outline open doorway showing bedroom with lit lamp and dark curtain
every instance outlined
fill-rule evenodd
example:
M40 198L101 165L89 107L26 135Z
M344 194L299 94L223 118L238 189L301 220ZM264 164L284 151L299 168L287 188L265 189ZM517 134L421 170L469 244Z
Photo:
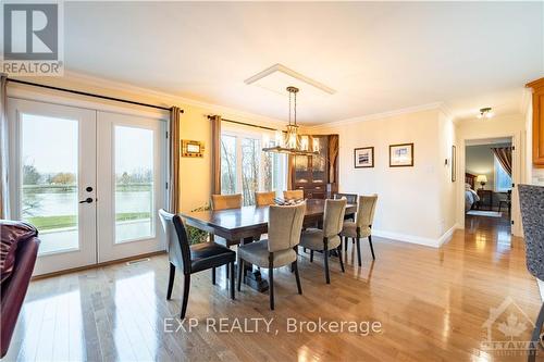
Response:
M465 226L511 235L512 138L467 140L465 146Z

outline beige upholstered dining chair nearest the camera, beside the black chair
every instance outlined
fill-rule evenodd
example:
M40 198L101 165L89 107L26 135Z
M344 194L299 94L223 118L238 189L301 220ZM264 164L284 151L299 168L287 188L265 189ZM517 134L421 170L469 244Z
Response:
M306 202L297 205L271 205L268 239L238 246L238 290L244 261L269 270L270 309L274 310L274 269L292 264L298 294L302 294L297 265L297 245L305 217Z

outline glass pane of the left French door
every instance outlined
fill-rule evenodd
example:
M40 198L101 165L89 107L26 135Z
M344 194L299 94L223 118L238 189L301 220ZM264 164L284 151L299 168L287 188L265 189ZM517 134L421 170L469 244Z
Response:
M76 120L21 114L21 219L38 228L39 254L79 248L77 145Z

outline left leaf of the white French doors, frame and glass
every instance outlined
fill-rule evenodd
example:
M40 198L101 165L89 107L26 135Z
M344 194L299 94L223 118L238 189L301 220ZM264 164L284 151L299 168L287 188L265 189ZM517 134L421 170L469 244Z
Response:
M8 118L12 219L41 240L34 274L96 263L96 111L10 98Z

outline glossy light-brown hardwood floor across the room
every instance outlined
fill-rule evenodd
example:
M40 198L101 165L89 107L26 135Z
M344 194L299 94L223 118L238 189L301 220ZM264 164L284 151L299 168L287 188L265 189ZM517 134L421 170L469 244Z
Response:
M176 277L173 299L166 301L165 255L36 280L4 360L526 360L519 353L502 357L481 348L491 308L511 297L522 312L509 313L519 319L526 313L534 321L541 305L536 282L526 269L522 240L510 238L499 220L484 219L467 222L469 228L457 230L441 249L375 237L375 262L363 241L362 267L356 266L350 245L345 274L338 261L331 260L331 285L323 279L321 254L313 263L304 254L302 296L288 267L274 272L275 311L269 310L268 295L248 287L230 300L223 269L215 286L210 273L195 274L187 319L199 324L191 332L165 332L164 319L180 313L183 287ZM274 320L270 333L221 333L207 332L207 317L228 317L231 323L235 317ZM289 317L379 321L382 332L287 333ZM168 321L177 327L174 320ZM516 339L529 339L529 323ZM500 332L494 333L500 337Z

